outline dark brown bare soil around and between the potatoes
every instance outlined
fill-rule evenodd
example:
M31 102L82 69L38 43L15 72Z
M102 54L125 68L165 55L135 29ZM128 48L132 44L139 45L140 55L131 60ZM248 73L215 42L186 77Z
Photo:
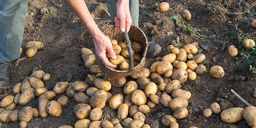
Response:
M106 3L99 3L96 0L85 0L90 12L96 19L96 23L104 30L110 26L109 16ZM250 23L255 19L255 15L248 14L230 14L224 12L241 12L238 6L239 0L168 0L170 5L169 11L162 13L154 10L155 2L164 2L163 0L139 0L140 17L139 27L145 32L149 41L154 41L162 47L169 44L181 46L193 42L198 43L200 52L206 55L207 60L204 64L208 72L205 75L197 76L195 81L187 81L182 85L182 89L190 91L192 97L189 100L189 115L184 119L178 119L180 128L197 126L198 128L249 128L244 119L241 121L228 124L221 121L220 114L213 114L206 118L203 116L203 110L210 107L213 102L218 102L221 109L230 107L242 107L246 105L233 95L230 91L235 90L242 98L251 105L256 106L256 98L252 93L256 87L256 74L250 72L246 62L241 62L238 67L229 68L236 57L231 57L227 52L227 47L231 44L238 47L238 59L241 46L237 43L244 35L236 30L236 26L244 34L255 32ZM211 5L209 5L211 4ZM212 6L216 5L216 6ZM246 10L253 5L253 0L242 0L241 9ZM47 8L47 14L41 14L40 10ZM183 31L182 26L178 27L172 16L179 16L183 9L188 9L192 14L191 21L185 21L194 28L201 30L201 35L212 36L216 38L200 37L197 33L194 35ZM221 10L222 11L221 11ZM256 7L250 9L256 12ZM180 30L181 29L181 30ZM256 37L256 35L251 35ZM27 58L25 55L24 45L28 41L42 41L45 44L43 50L38 51L33 58ZM255 40L254 40L255 41ZM211 43L212 47L202 47L204 44ZM32 73L33 69L41 69L51 75L51 79L44 82L48 90L52 90L57 82L66 81L66 74L73 75L72 81L84 81L89 70L85 68L81 58L80 49L82 47L93 48L93 40L88 34L85 26L79 18L72 12L64 0L29 0L27 9L26 25L23 36L23 54L18 61L12 62L11 81L8 87L0 88L0 99L8 94L12 94L12 87ZM247 51L247 54L250 51ZM250 59L255 56L251 55ZM147 59L146 66L149 67L154 59ZM226 75L224 78L215 79L209 74L210 67L214 65L222 66ZM253 64L252 66L256 66ZM115 94L122 92L122 88L112 88L110 93ZM53 100L57 100L57 95ZM29 102L26 106L38 107L37 98ZM69 104L62 107L60 117L48 116L46 119L41 117L33 118L27 123L27 128L56 128L61 125L74 126L78 120L73 113L73 108L77 104L70 97ZM24 106L17 105L15 109L20 110ZM110 119L116 115L116 111L110 109L108 105L103 109L102 119ZM170 108L157 105L146 115L145 123L153 127L159 123L160 128L167 128L162 125L161 118L166 114L173 114ZM19 122L1 123L0 128L18 128Z

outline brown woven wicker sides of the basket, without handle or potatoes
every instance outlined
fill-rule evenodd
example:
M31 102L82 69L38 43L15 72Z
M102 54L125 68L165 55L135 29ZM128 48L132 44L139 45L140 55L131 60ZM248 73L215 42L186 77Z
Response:
M118 32L116 26L108 27L106 30L104 30L103 33L105 35L110 36L110 38L117 40L118 42L124 40L124 35L122 33ZM106 66L102 62L102 60L97 56L97 54L95 54L97 64L99 66L99 69L101 70L101 73L102 73L102 76L104 77L104 79L113 80L113 79L117 79L117 78L123 78L125 76L129 76L133 73L139 72L140 70L143 69L143 67L145 65L146 53L148 50L148 42L147 42L146 36L142 32L142 30L140 30L139 27L136 27L136 26L131 26L131 29L128 32L128 34L129 34L129 38L131 40L142 44L143 57L142 57L141 61L139 62L139 64L136 67L134 67L134 70L132 70L132 71L130 71L130 70L120 71L120 70L111 69L110 67Z

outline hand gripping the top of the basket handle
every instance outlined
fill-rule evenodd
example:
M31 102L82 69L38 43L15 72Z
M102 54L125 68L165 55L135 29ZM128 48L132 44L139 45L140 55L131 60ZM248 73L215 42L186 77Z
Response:
M131 19L131 13L129 8L129 0L118 0L116 4L117 16L114 18L117 29L120 33L124 32L125 29L129 32L133 21Z

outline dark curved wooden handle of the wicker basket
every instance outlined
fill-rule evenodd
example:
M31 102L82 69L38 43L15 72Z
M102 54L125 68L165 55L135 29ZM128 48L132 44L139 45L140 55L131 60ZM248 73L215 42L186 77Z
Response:
M125 41L126 41L126 45L127 45L127 49L128 49L128 53L129 53L129 59L130 59L129 72L132 72L134 70L133 50L131 49L131 42L130 42L129 35L126 30L123 32L123 35L125 36Z

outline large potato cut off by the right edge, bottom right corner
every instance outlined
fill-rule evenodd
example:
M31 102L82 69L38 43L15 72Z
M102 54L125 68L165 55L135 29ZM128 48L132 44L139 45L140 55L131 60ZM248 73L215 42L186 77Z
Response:
M254 106L248 106L244 109L243 113L243 117L245 119L245 121L247 122L247 124L251 127L256 126L256 107ZM2 113L1 113L2 114Z

